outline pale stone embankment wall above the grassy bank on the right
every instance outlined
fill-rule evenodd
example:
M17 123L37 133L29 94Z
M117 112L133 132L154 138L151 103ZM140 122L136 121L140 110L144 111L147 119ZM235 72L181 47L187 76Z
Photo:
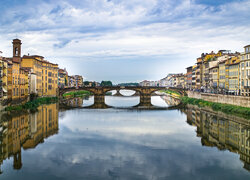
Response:
M202 99L205 101L232 104L236 106L243 106L250 108L250 97L246 96L233 96L233 95L222 95L222 94L209 94L188 91L188 97Z

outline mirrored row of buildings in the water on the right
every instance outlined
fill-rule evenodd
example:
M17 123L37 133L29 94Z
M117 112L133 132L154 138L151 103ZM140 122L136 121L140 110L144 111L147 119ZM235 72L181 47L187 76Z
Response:
M216 146L240 154L244 168L250 170L250 127L245 121L235 117L220 115L195 107L185 110L187 122L197 127L197 136L205 146ZM246 120L247 122L247 120Z

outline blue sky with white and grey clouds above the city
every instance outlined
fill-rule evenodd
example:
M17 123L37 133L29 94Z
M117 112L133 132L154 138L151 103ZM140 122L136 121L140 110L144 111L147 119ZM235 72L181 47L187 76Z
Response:
M0 51L41 55L85 80L159 80L201 53L243 52L250 0L1 0Z

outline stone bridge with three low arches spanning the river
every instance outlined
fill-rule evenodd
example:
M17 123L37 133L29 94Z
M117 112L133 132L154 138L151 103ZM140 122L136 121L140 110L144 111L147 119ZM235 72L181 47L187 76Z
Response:
M180 94L185 94L185 90L177 88L166 88L166 87L144 87L144 86L104 86L104 87L79 87L79 88L64 88L60 89L59 95L62 97L64 93L71 91L89 91L94 96L95 108L104 108L105 105L105 95L108 91L116 90L120 94L120 90L132 90L135 94L140 96L140 103L138 106L151 106L151 96L155 91L172 89L178 91Z

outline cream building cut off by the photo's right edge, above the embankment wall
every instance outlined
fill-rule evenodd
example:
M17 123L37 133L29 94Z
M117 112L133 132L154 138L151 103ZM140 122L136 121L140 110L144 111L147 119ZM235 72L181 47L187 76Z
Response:
M240 94L250 96L250 45L240 55Z

